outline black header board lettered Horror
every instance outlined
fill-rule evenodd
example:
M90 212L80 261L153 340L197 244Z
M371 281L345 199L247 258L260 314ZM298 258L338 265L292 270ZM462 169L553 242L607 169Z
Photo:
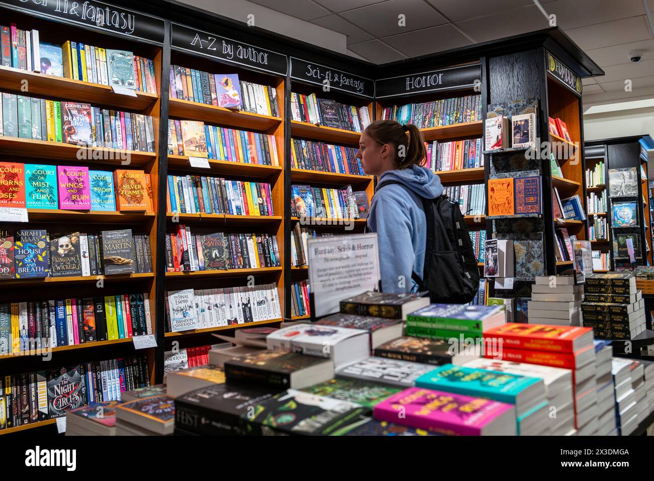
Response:
M481 82L481 65L462 65L429 72L382 78L375 82L376 97L396 97L440 90L455 90Z

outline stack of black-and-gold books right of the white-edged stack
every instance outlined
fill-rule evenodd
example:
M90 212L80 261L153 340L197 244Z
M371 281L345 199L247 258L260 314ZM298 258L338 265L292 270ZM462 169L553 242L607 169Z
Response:
M599 339L634 339L645 331L645 299L630 273L586 276L583 325Z

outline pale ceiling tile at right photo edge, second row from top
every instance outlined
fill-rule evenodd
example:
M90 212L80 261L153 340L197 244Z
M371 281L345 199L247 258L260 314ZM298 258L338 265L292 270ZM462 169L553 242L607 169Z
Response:
M652 38L652 31L644 15L573 28L566 30L566 33L583 50Z

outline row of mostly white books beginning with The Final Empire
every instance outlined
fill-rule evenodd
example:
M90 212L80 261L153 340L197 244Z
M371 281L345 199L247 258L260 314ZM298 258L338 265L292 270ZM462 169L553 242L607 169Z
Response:
M282 317L277 284L167 291L167 332L208 329Z

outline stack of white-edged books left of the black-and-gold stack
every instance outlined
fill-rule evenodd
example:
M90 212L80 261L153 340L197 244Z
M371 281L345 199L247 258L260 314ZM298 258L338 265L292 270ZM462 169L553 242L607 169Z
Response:
M537 276L528 301L530 324L581 325L583 285L573 276Z

